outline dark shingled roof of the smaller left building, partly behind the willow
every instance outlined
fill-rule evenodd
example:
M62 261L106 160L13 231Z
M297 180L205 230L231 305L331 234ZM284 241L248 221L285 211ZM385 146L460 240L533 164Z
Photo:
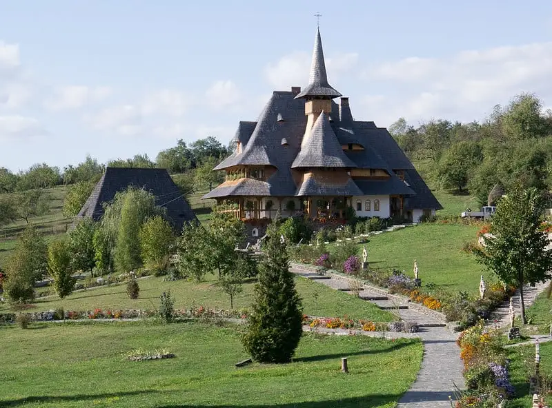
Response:
M176 230L181 230L184 223L197 220L167 170L128 167L108 167L77 217L88 216L99 221L103 216L104 203L111 203L117 192L130 186L151 192L155 196L155 204L166 208L168 221Z

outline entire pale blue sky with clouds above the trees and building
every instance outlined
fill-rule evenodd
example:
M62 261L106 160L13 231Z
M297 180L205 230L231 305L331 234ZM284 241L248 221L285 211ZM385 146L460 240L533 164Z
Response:
M550 1L3 1L0 167L226 144L306 85L315 12L355 119L481 120L520 92L552 106Z

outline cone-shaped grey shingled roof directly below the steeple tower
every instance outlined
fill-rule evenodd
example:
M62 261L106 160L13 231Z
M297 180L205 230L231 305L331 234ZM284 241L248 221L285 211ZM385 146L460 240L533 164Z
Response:
M291 168L297 167L357 167L343 152L324 112L319 114L311 134L291 165Z

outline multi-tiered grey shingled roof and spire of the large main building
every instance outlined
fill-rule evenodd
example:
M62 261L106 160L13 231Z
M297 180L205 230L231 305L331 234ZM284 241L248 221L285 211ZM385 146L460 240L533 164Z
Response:
M406 208L442 208L391 134L373 121L353 119L348 98L342 98L339 105L331 101L331 112L322 112L311 132L305 132L305 99L309 96L340 96L328 84L319 30L307 87L302 92L298 87L292 87L291 92L273 92L256 122L239 123L235 140L242 143L241 151L215 167L219 170L235 165L270 165L275 173L266 181L241 179L222 183L204 198L400 194L407 197ZM305 134L308 139L303 140ZM349 144L360 145L364 150L344 151L342 146ZM315 171L304 176L302 173L309 167L333 167L335 171ZM345 170L355 167L384 170L390 177L351 178ZM395 170L404 171L409 185L396 176Z

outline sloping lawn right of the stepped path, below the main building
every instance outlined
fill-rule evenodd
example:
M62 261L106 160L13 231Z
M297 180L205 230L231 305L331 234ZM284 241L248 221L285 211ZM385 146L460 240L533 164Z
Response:
M420 269L422 285L433 282L440 289L476 294L481 265L472 254L462 252L462 245L475 241L478 227L455 224L420 224L394 232L371 236L366 245L371 267L404 270L414 276L414 260ZM359 249L359 251L362 249Z

